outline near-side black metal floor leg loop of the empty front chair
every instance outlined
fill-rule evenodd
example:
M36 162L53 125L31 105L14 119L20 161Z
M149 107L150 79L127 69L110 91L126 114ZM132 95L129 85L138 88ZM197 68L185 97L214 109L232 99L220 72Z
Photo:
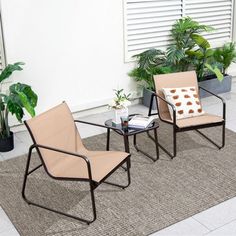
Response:
M32 149L33 148L34 147L30 147L30 150L29 150L28 159L27 159L27 163L26 163L26 169L25 169L25 176L24 176L24 181L23 181L23 187L22 187L22 197L25 200L25 202L27 202L29 205L37 206L37 207L43 208L45 210L52 211L54 213L57 213L57 214L60 214L60 215L64 215L64 216L67 216L67 217L70 217L70 218L73 218L73 219L76 219L76 220L79 220L81 222L87 223L88 225L90 223L94 222L96 220L96 217L97 217L96 206L95 206L95 197L94 197L94 189L97 186L94 185L92 182L90 182L90 194L91 194L92 210L93 210L93 218L92 218L92 220L86 220L86 219L83 219L83 218L80 218L80 217L77 217L77 216L74 216L74 215L71 215L71 214L67 214L67 213L64 213L62 211L58 211L56 209L52 209L52 208L40 205L38 203L32 202L32 201L30 201L30 200L28 200L26 198L26 196L25 196L25 189L26 189L27 177L28 177L29 174L32 173L32 171L30 171L30 172L28 172L28 171L29 171L30 160L31 160Z

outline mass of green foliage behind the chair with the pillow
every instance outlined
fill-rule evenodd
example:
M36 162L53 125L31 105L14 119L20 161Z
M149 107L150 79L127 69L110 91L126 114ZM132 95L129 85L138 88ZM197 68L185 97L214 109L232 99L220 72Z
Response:
M236 62L236 43L226 43L216 50L201 33L214 30L190 17L177 20L171 29L172 44L166 52L149 49L135 55L137 66L129 76L153 90L153 75L195 70L199 81L216 75L219 81L232 62ZM223 74L222 74L223 73Z

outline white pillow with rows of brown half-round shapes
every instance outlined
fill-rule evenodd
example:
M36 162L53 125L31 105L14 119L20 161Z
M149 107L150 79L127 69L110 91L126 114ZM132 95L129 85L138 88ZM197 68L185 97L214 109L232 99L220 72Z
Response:
M162 91L166 100L175 106L176 119L199 116L205 113L202 110L202 106L195 87L163 88ZM172 109L170 106L168 107L171 118L173 119Z

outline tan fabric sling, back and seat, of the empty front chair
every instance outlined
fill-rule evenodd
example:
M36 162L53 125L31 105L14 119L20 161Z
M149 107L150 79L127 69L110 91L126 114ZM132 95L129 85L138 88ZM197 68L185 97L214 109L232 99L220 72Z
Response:
M92 179L102 180L127 156L126 152L89 151L82 143L71 112L62 103L27 121L37 144L58 148L88 157ZM86 162L80 157L39 148L47 171L54 177L88 179Z

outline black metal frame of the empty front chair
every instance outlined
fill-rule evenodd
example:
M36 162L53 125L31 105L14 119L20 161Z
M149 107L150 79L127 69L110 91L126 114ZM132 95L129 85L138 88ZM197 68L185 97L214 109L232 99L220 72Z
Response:
M106 126L103 126L103 125L99 125L99 124L94 124L94 123L89 123L89 122L84 122L84 121L80 121L80 120L75 120L75 122L79 122L79 123L85 123L85 124L89 124L89 125L94 125L94 126L99 126L99 127L103 127L103 128L107 128ZM130 182L131 182L131 178L130 178L130 168L128 168L130 166L130 154L127 154L127 157L117 166L115 167L110 173L108 173L102 180L100 180L99 182L96 182L92 179L92 171L91 171L91 165L90 165L90 161L89 159L84 156L84 155L80 155L78 153L73 153L73 152L67 152L67 151L64 151L64 150L60 150L60 149L57 149L57 148L53 148L53 147L48 147L48 146L45 146L45 145L40 145L40 144L37 144L35 142L35 139L33 137L33 134L32 134L32 131L30 129L30 127L27 125L26 122L24 122L27 129L29 130L29 133L30 133L30 136L33 140L33 145L30 146L29 148L29 153L28 153L28 159L27 159L27 163L26 163L26 169L25 169L25 175L24 175L24 181L23 181L23 187L22 187L22 197L23 199L29 204L29 205L34 205L34 206L37 206L37 207L40 207L40 208L43 208L43 209L46 209L48 211L52 211L54 213L58 213L58 214L61 214L61 215L64 215L64 216L67 216L67 217L70 217L70 218L73 218L73 219L76 219L76 220L79 220L79 221L82 221L84 223L87 223L88 225L92 222L94 222L97 218L97 212L96 212L96 205L95 205L95 197L94 197L94 190L102 183L106 183L106 184L110 184L110 185L113 185L113 186L117 186L117 187L120 187L122 189L125 189L127 188L129 185L130 185ZM111 128L112 129L112 128ZM54 152L59 152L59 153L64 153L64 154L68 154L68 155L71 155L71 156L76 156L78 158L81 158L83 159L85 162L86 162L86 165L87 165L87 170L88 170L88 179L83 179L83 178L64 178L64 177L55 177L55 176L52 176L48 169L47 169L47 166L45 165L44 161L43 161L43 158L42 158L42 155L40 153L40 150L39 148L44 148L44 149L47 149L47 150L51 150L51 151L54 151ZM41 160L41 164L36 166L35 168L33 168L32 170L29 170L29 167L30 167L30 161L31 161L31 156L32 156L32 151L33 149L36 149L39 157L40 157L40 160ZM119 184L116 184L116 183L111 183L111 182L107 182L106 179L113 173L115 172L119 167L121 167L123 164L127 164L127 177L128 177L128 184L127 185L119 185ZM56 209L53 209L53 208L50 208L50 207L47 207L47 206L44 206L44 205L41 205L41 204L38 204L38 203L35 203L31 200L28 200L26 195L25 195L25 189L26 189L26 183L27 183L27 177L32 174L34 171L36 171L37 169L39 169L40 167L44 167L46 173L53 179L56 179L56 180L65 180L65 181L83 181L83 182L88 182L89 183L89 186L90 186L90 194L91 194L91 202L92 202L92 213L93 213L93 217L91 220L88 220L88 219L83 219L81 217L78 217L78 216L74 216L74 215L71 215L71 214L67 214L67 213L64 213L62 211L59 211L59 210L56 210Z

